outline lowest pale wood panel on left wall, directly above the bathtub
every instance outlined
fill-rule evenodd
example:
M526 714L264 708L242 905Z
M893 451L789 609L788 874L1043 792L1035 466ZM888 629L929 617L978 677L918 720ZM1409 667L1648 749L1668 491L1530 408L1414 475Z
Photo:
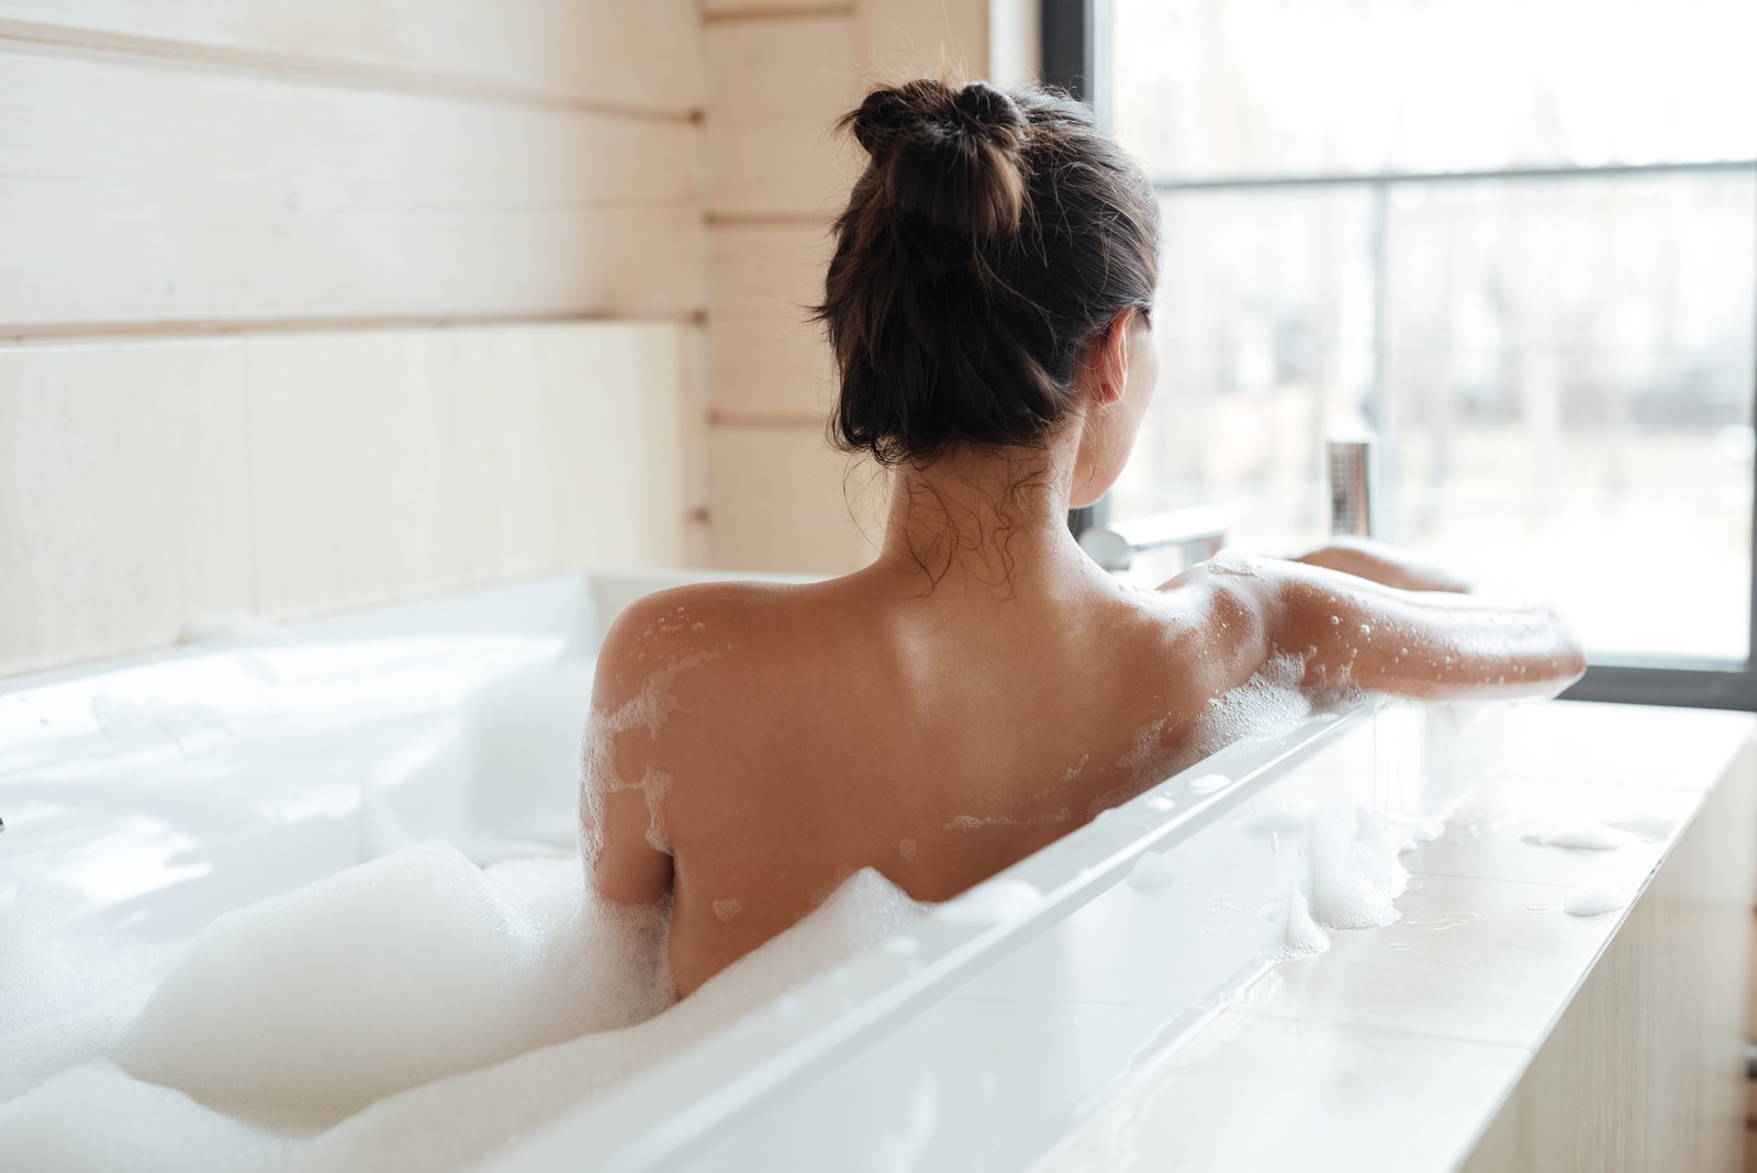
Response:
M0 348L0 674L485 579L680 565L696 327Z

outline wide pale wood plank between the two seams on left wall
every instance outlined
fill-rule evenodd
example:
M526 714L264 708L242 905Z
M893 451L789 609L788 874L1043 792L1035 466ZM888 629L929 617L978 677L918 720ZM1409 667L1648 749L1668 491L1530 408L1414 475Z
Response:
M0 53L0 334L685 314L696 128Z

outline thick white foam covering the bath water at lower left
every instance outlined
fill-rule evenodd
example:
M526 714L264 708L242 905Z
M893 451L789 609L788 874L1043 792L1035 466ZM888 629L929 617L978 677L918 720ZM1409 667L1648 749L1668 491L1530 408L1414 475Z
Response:
M601 906L578 857L480 869L425 843L228 913L174 961L67 925L54 945L32 917L69 910L18 896L0 962L32 983L0 999L7 1166L179 1171L466 1166L922 911L854 873L673 1003L661 911ZM1037 899L989 887L970 911Z

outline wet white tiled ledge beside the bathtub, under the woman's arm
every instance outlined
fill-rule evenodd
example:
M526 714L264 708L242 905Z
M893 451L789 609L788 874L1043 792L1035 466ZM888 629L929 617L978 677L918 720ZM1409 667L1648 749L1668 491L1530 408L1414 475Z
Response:
M1752 729L1734 713L1520 708L1506 766L1476 785L1442 836L1407 857L1413 880L1399 922L1341 932L1330 954L1281 966L1191 1045L1095 1108L1042 1168L1467 1166L1717 785L1752 787ZM1583 822L1616 831L1618 846L1544 843ZM1594 882L1629 903L1567 915L1569 894ZM1727 883L1738 889L1724 894L1729 920L1743 929L1748 883ZM1743 941L1717 946L1741 952ZM1590 1085L1601 1075L1580 1078ZM1743 1071L1725 1075L1743 1108ZM1544 1124L1558 1122L1536 1129ZM1741 1131L1739 1120L1731 1126ZM1513 1168L1500 1148L1483 1159Z

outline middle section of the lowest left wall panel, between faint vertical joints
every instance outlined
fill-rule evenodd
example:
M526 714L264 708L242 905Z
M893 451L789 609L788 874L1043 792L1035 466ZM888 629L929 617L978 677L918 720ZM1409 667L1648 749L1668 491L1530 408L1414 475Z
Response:
M257 609L336 611L494 578L487 363L450 332L242 342Z

